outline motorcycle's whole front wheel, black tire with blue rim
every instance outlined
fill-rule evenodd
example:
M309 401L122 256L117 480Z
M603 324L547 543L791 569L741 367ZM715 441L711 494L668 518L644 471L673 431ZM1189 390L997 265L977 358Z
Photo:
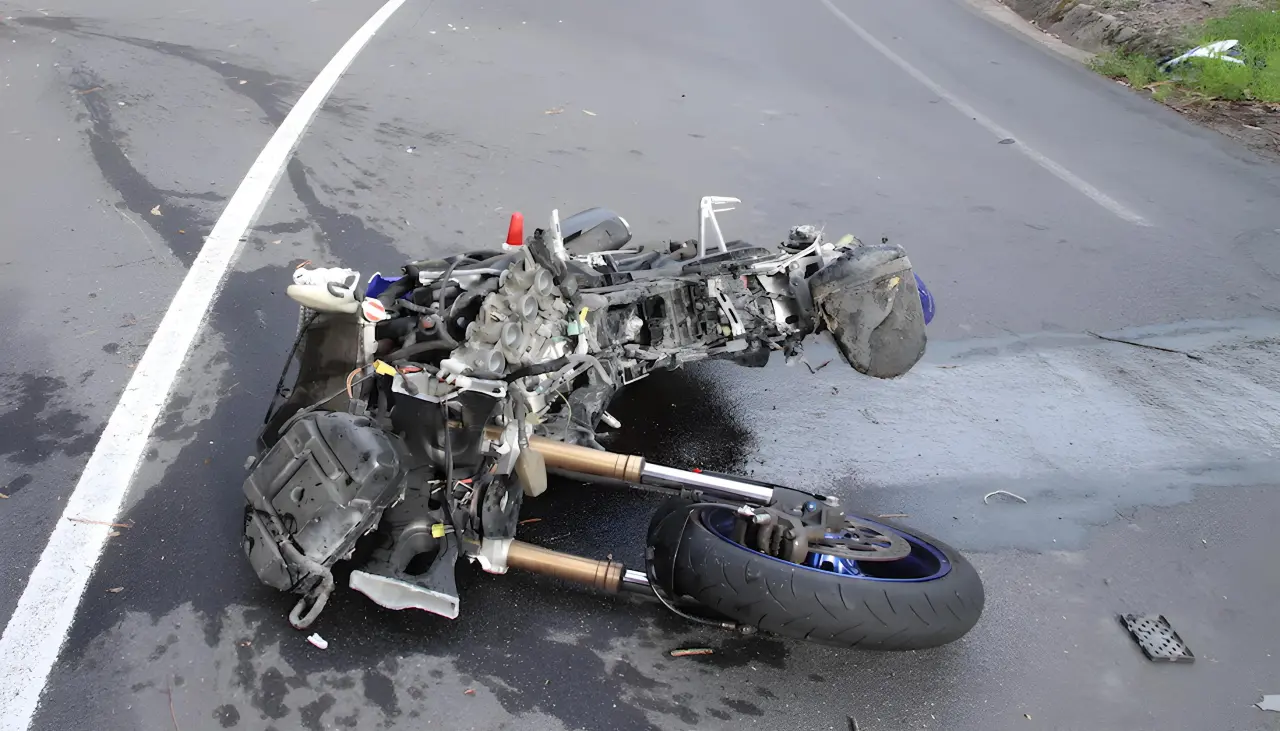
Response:
M852 517L852 516L851 516ZM916 531L854 517L910 547L893 561L810 550L801 563L733 540L735 510L660 510L649 530L650 580L740 625L827 645L913 650L952 643L982 615L973 565Z

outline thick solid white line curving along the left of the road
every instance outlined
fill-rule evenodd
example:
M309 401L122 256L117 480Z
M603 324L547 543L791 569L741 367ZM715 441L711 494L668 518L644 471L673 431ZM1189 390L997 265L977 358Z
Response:
M388 0L311 82L244 175L174 294L0 636L0 731L26 731L29 726L106 544L110 527L67 518L115 520L151 429L239 253L241 237L266 205L293 149L338 79L403 4Z

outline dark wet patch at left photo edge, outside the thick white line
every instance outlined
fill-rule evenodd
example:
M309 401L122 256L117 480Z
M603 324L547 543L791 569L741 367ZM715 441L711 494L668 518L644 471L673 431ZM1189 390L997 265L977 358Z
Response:
M0 456L10 462L40 465L56 453L78 457L97 443L101 428L86 431L90 420L61 405L68 393L65 379L33 373L3 375L0 393Z

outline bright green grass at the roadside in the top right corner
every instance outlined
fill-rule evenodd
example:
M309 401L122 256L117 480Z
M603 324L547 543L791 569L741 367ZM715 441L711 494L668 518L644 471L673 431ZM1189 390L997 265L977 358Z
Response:
M1212 41L1236 40L1243 64L1219 59L1193 59L1167 73L1160 60L1142 54L1112 51L1094 60L1093 68L1121 78L1134 88L1148 88L1158 101L1179 93L1204 100L1280 102L1280 0L1263 9L1236 9L1190 28L1190 47Z

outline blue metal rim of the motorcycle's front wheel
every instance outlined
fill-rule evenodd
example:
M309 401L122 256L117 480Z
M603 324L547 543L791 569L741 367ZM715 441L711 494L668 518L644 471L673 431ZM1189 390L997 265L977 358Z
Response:
M906 542L911 544L911 553L897 561L854 561L851 558L809 552L804 563L791 563L790 561L783 561L782 558L762 553L754 548L735 542L732 535L736 516L733 515L732 508L713 507L701 511L701 513L703 525L707 526L707 529L712 531L716 538L736 545L742 550L758 553L769 561L777 561L780 563L786 563L787 566L796 566L799 568L804 568L805 571L837 574L849 579L861 579L865 581L899 582L934 581L937 579L942 579L951 571L951 562L947 561L946 554L943 554L942 550L932 543L922 540L893 526L867 520L861 516L858 517L860 522L872 525L887 533L897 534L906 539Z

